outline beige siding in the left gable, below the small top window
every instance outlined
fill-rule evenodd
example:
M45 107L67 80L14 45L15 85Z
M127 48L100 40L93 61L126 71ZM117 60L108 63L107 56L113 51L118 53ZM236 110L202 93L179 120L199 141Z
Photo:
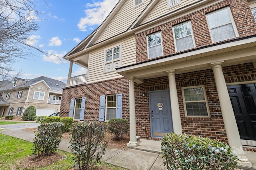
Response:
M102 35L100 35L96 43L126 31L128 27L130 27L130 25L132 25L132 23L138 18L144 8L146 8L149 2L150 0L144 0L142 5L134 8L134 0L128 0L122 9L117 13L116 17L103 31Z

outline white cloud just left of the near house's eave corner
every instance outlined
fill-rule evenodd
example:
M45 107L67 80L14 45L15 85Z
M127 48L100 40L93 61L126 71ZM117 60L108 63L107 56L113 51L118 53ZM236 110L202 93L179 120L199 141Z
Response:
M68 63L68 61L62 59L64 55L66 55L66 51L62 51L61 53L58 53L57 51L54 50L49 50L47 52L48 56L43 55L43 61L48 61L50 63L55 63L55 64L61 64L61 63Z

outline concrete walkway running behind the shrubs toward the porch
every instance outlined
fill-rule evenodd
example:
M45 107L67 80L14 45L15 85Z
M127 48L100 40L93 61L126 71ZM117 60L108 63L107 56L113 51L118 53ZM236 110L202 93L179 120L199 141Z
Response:
M4 130L0 133L13 136L25 141L33 142L34 132L18 130ZM70 152L69 139L62 139L59 148ZM256 153L247 152L247 158L252 162L254 168L240 166L244 170L256 170ZM161 154L161 142L140 139L140 143L136 148L127 149L106 149L106 154L102 157L102 161L120 166L130 170L164 170L162 165L163 159Z

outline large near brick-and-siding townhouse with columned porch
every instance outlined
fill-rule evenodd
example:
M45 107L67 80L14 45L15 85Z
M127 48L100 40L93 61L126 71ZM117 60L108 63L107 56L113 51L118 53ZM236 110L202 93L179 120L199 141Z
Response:
M256 0L120 0L64 59L63 117L128 119L128 146L175 132L256 152Z

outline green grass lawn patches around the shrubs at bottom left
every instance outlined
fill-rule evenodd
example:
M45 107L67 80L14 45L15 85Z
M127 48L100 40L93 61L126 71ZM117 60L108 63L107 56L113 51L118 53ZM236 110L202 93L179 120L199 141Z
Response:
M0 133L0 169L1 170L22 170L18 168L18 165L24 158L32 155L33 143L3 135ZM54 164L51 164L45 168L37 168L36 170L69 170L72 168L74 162L72 162L73 154L58 150L58 153L67 156L67 159L62 159ZM106 170L125 170L124 168L116 167L111 164L101 162L96 166ZM28 170L28 169L26 169Z

